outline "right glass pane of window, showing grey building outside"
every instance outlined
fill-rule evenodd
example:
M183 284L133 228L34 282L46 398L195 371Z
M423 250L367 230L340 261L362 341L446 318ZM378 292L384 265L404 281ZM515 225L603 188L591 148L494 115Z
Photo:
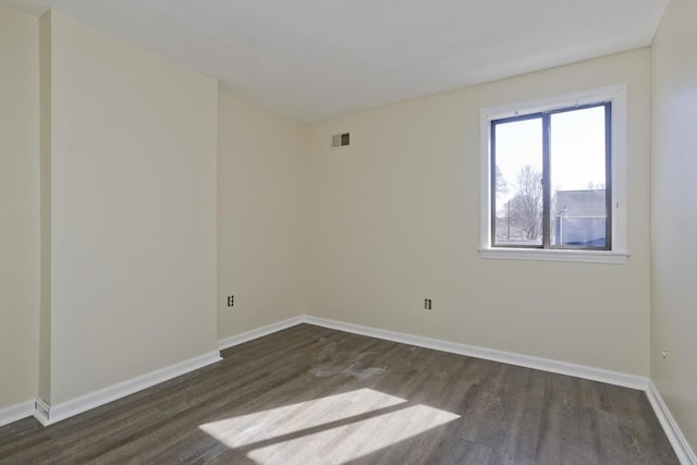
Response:
M550 178L550 243L606 247L603 106L551 115Z

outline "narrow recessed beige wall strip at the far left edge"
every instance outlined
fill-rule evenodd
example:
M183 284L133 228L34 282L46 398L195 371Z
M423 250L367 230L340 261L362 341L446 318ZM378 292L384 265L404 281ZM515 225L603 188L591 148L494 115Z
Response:
M0 411L36 397L38 21L0 5Z

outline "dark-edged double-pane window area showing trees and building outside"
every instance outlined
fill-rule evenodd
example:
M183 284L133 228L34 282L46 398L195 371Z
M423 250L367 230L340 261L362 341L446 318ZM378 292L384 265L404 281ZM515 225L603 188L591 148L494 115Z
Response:
M491 122L493 246L610 248L610 109Z

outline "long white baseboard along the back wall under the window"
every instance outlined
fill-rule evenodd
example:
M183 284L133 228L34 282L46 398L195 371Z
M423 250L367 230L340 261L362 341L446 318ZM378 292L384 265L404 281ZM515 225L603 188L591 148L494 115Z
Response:
M388 341L401 342L403 344L417 345L419 347L433 348L436 351L450 352L453 354L467 355L470 357L484 358L487 360L501 362L526 368L535 368L559 375L574 376L592 381L607 382L608 384L621 386L623 388L646 391L648 379L623 374L620 371L604 370L584 365L570 364L566 362L552 360L549 358L534 357L530 355L515 354L512 352L497 351L493 348L479 347L476 345L461 344L457 342L441 341L438 339L424 338L420 335L406 334L402 332L388 331L359 325L346 323L343 321L330 320L313 316L304 317L305 322L325 328L332 328L340 331L348 331L356 334L369 335L372 338L386 339Z

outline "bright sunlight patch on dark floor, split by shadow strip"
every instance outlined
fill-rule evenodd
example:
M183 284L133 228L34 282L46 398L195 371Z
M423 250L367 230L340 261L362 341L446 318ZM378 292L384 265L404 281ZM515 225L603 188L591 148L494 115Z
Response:
M458 418L371 389L199 426L259 464L343 463Z

